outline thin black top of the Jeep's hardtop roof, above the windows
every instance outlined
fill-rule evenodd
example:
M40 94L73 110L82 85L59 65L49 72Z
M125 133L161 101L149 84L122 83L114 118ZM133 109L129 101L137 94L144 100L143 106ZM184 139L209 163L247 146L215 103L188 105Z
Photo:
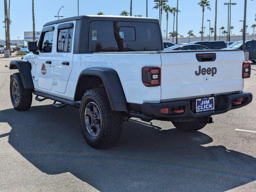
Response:
M74 17L68 17L60 20L55 20L51 22L47 22L44 24L44 26L49 26L57 23L63 23L68 21L74 21L74 20L82 20L82 19L88 19L88 20L118 20L118 21L130 21L130 22L153 22L153 23L159 23L158 19L154 18L146 18L146 17L130 17L130 16L105 16L105 15L89 15L89 16L74 16Z

